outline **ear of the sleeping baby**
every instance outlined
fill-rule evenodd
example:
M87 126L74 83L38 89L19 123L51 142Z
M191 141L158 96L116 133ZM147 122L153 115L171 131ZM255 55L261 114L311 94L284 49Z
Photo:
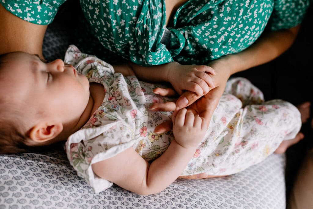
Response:
M35 142L45 142L57 137L62 130L62 123L38 123L29 131L29 138Z

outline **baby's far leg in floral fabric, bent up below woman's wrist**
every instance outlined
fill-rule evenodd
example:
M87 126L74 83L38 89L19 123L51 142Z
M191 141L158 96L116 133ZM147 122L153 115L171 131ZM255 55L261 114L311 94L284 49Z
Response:
M264 96L261 90L254 86L249 80L238 77L227 81L225 93L237 97L242 106L249 104L261 104L264 102Z

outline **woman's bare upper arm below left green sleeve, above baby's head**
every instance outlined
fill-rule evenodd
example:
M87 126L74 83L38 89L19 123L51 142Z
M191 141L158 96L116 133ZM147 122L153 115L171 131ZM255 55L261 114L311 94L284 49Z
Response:
M29 23L8 12L0 3L0 54L24 51L42 55L47 25Z

